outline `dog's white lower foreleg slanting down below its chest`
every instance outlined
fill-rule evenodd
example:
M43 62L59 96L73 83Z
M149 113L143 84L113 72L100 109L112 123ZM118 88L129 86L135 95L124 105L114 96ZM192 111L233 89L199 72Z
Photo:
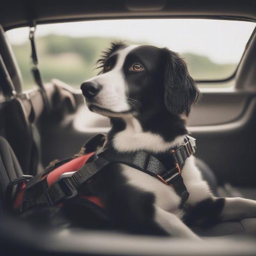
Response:
M166 212L160 207L155 207L155 221L168 234L174 237L201 240L186 224L176 215Z

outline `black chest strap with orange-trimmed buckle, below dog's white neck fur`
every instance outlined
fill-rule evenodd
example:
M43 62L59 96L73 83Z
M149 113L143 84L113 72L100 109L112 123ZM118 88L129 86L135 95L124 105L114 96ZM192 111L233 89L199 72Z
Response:
M173 186L181 198L181 205L189 198L189 192L183 182L181 170L185 161L195 152L195 139L187 136L184 144L176 150L170 150L168 161L159 160L145 151L120 153L106 148L98 156L109 162L124 163L149 175L158 177L164 183Z

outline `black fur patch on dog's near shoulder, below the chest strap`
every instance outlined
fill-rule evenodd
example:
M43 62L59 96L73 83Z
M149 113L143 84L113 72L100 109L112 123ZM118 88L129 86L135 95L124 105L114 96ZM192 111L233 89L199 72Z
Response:
M153 219L154 195L128 185L120 169L118 163L109 164L91 187L102 199L111 227L137 234L166 235Z

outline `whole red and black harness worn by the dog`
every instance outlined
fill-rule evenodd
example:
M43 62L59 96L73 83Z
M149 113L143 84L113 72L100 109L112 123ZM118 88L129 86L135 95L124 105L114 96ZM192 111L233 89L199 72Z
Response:
M172 186L181 198L181 205L186 202L189 192L181 176L183 166L188 157L195 153L195 139L186 136L182 145L169 150L163 157L155 157L145 151L120 153L106 148L99 154L96 149L105 134L97 134L85 143L84 155L56 162L45 172L36 175L23 175L9 183L6 190L6 201L12 198L12 209L24 211L35 205L56 205L70 198L82 197L103 207L96 195L80 195L79 187L84 183L93 182L93 176L109 163L123 163L148 175L154 176L166 185ZM13 196L13 187L17 185ZM10 203L9 203L10 204ZM10 207L9 207L10 208Z

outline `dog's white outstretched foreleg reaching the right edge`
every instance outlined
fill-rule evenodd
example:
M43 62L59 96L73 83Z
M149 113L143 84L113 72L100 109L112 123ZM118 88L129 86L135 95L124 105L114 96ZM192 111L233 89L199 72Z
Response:
M256 201L245 198L224 198L222 221L256 217Z

